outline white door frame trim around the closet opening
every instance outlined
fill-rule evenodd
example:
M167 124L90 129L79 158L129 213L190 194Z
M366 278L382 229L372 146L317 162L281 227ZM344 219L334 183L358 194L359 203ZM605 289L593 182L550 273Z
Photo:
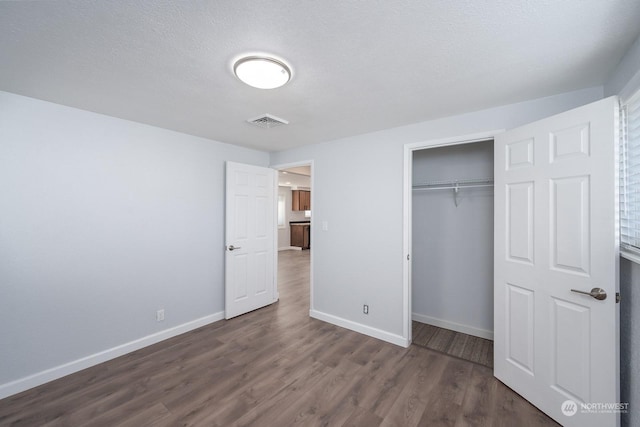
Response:
M412 340L412 307L411 307L411 261L413 254L412 248L412 229L413 229L413 216L412 216L412 186L413 186L413 152L418 150L424 150L427 148L446 147L452 145L471 144L474 142L486 141L488 139L494 139L496 135L504 132L505 129L496 129L486 132L479 132L474 134L460 135L448 138L431 139L422 142L414 142L404 145L404 177L403 177L403 192L402 192L402 209L403 209L403 221L402 221L402 310L403 310L403 325L402 325L402 337L407 343L407 347L411 345ZM311 170L313 174L313 169ZM312 254L313 256L313 254Z

